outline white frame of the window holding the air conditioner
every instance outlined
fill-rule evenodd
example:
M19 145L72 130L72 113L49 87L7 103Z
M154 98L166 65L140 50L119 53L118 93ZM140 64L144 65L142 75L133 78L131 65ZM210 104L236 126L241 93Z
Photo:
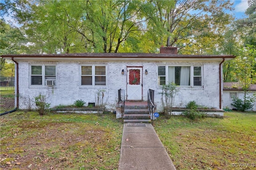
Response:
M42 74L41 75L32 75L32 66L41 66ZM45 75L45 66L55 66L55 75L54 76ZM30 64L29 68L30 68L30 71L29 71L30 86L32 86L32 87L48 87L48 85L46 85L46 79L54 81L54 85L56 85L56 72L57 71L56 71L55 64ZM32 76L42 76L42 85L32 85Z

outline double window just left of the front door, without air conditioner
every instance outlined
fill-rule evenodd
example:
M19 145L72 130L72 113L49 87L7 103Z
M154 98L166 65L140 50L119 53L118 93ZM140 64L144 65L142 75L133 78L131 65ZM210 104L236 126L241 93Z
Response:
M81 85L106 85L106 66L82 65Z

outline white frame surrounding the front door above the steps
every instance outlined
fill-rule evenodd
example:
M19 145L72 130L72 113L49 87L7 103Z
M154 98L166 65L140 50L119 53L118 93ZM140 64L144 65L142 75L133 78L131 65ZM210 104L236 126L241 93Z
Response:
M129 70L130 69L136 69L136 68L138 68L138 69L140 69L141 71L140 71L140 90L141 90L141 97L140 97L140 99L130 99L130 93L129 93L129 91L128 91L128 83L129 83ZM130 101L142 101L143 100L143 66L126 66L126 100L130 100Z

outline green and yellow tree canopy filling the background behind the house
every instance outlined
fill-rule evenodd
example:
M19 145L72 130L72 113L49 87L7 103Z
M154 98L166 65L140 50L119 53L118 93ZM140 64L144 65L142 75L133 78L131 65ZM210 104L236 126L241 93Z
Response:
M223 64L224 81L240 81L244 63L256 83L256 1L248 3L248 17L234 20L230 0L4 0L0 52L155 53L176 46L180 54L236 55Z

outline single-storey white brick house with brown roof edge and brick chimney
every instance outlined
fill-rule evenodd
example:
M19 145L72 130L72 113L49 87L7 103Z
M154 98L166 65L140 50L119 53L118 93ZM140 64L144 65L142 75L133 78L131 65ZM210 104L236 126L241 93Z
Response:
M76 53L2 55L15 64L17 98L49 94L51 107L70 105L78 99L95 102L98 89L108 92L109 111L114 111L118 89L126 100L146 101L148 89L155 91L154 103L161 110L161 85L174 81L180 91L175 107L189 101L222 109L222 63L233 55L179 55L175 47L160 53ZM123 73L122 73L123 71ZM130 75L130 76L129 76Z

